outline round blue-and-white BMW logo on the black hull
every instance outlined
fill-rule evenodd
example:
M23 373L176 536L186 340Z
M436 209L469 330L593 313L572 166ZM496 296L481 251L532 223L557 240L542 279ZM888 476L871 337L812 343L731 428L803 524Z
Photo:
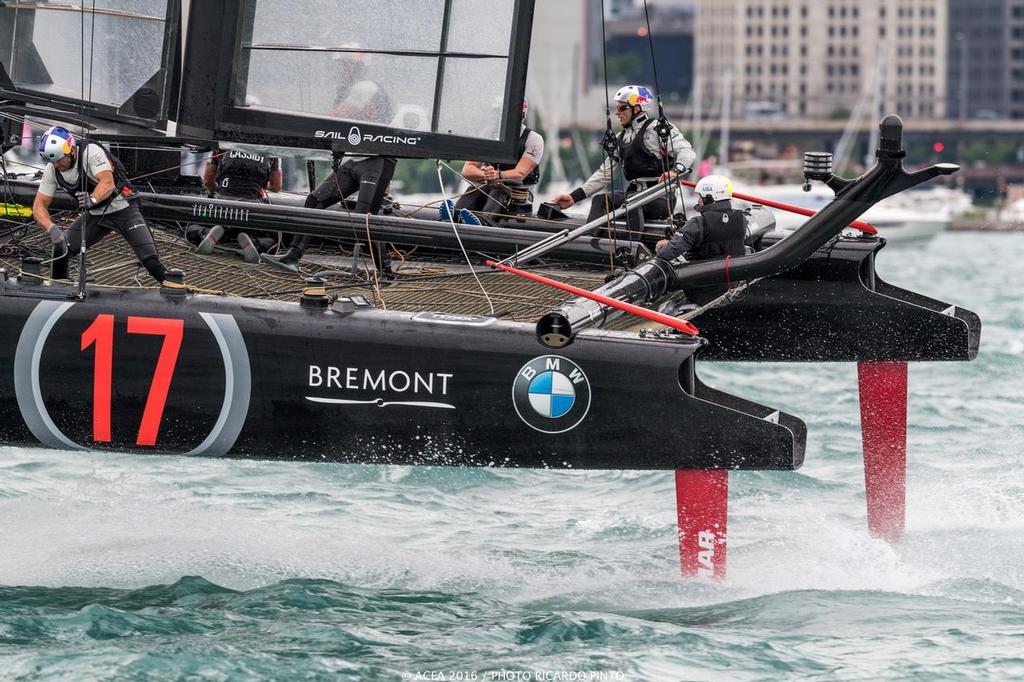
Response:
M590 381L572 360L541 355L516 374L512 406L530 428L564 433L575 428L590 411Z

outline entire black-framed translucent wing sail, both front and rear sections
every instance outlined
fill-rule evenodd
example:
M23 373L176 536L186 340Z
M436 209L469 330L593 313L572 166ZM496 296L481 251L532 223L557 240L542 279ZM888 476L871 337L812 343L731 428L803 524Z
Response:
M511 162L534 2L10 0L0 100L108 141Z

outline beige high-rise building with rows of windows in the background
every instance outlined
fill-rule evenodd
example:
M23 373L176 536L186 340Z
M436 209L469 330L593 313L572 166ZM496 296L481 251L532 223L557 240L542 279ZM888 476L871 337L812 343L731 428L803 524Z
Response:
M946 113L949 0L697 0L695 86L733 116Z

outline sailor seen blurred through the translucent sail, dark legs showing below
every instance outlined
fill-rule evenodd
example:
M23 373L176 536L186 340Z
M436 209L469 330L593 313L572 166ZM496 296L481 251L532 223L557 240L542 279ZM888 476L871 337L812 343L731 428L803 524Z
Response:
M338 103L330 114L350 121L389 124L391 98L374 81L364 78L367 55L352 53L340 60ZM393 157L347 157L306 198L306 208L326 209L355 194L352 213L377 214L384 203L397 160ZM357 193L357 194L356 194ZM263 260L298 272L299 260L309 244L309 236L296 235L282 256L263 254ZM374 266L386 280L393 280L391 263L385 260L386 249L377 242L371 245Z

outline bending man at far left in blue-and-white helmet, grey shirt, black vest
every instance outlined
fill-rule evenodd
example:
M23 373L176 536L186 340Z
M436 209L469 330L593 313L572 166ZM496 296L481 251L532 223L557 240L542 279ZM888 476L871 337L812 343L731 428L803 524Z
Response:
M83 223L88 219L86 247L112 231L119 232L153 279L163 283L167 269L160 262L153 235L138 210L124 164L98 142L89 142L80 150L75 136L59 126L39 138L39 155L46 167L32 205L32 216L49 232L58 254L51 265L53 279L68 279L68 261L82 249ZM74 197L83 211L67 235L50 217L50 203L58 188Z

